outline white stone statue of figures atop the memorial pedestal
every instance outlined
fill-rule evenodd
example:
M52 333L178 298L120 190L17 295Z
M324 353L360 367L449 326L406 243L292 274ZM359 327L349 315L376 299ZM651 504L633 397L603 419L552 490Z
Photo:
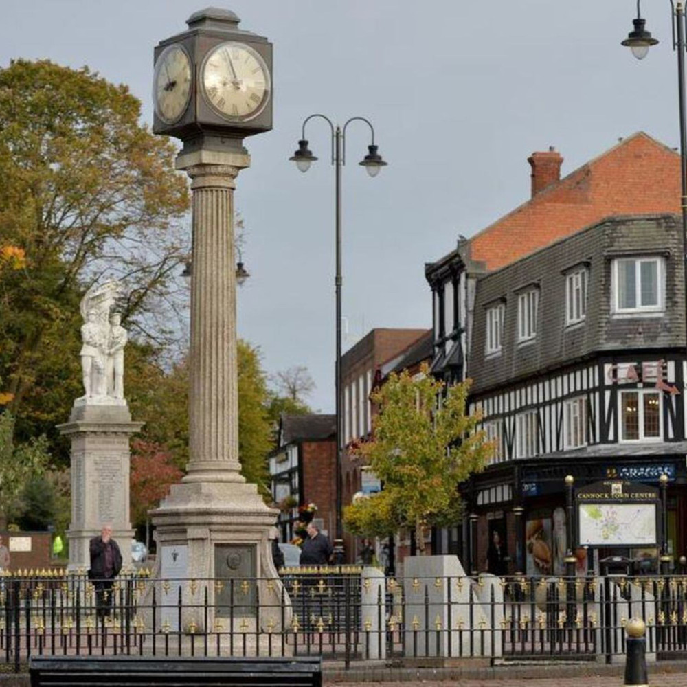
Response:
M124 346L128 337L120 324L120 313L111 312L121 292L119 282L106 282L91 286L81 300L85 324L81 327L80 356L85 394L77 399L80 403L124 402Z

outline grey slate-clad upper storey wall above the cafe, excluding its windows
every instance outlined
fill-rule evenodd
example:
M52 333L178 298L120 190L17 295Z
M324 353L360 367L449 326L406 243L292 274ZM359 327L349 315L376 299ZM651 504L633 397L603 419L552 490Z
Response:
M661 254L666 260L665 312L662 317L611 313L612 258ZM588 269L587 317L565 326L565 274L576 265ZM586 227L477 280L468 374L471 392L542 374L559 365L612 351L657 350L684 346L682 223L675 215L613 217ZM539 289L537 336L517 343L518 293ZM486 354L486 311L504 303L502 350Z

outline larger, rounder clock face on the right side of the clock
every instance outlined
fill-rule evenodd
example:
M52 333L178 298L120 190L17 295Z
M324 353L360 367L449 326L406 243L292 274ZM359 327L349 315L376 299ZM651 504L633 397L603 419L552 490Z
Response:
M203 60L201 84L205 100L226 120L245 122L257 117L269 101L269 70L249 45L227 41Z

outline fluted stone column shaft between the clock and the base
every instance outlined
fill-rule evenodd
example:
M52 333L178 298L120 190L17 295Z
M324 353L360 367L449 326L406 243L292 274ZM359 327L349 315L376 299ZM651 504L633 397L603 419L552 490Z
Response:
M186 169L193 190L186 482L243 482L238 462L234 188L240 168Z

